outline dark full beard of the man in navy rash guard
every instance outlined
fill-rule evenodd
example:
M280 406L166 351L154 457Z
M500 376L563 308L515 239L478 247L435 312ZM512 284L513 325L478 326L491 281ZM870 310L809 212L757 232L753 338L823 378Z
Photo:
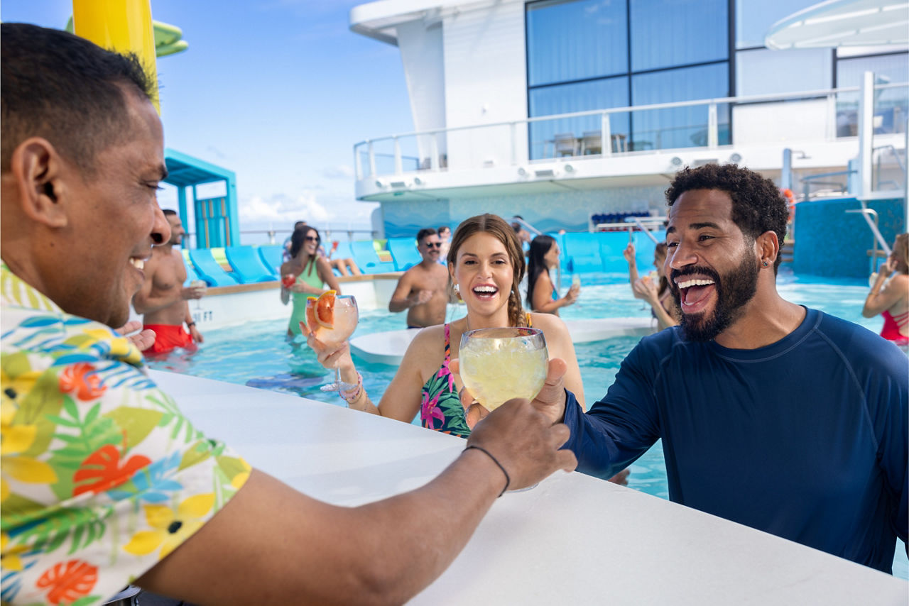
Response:
M757 292L757 261L747 250L738 267L726 273L722 278L719 273L706 267L693 266L681 271L673 270L669 281L670 290L680 312L682 309L681 293L675 286L675 281L685 275L710 277L714 281L716 291L716 304L711 315L708 316L706 311L691 314L680 313L682 321L679 325L688 341L704 342L716 338L717 334L722 333L742 317L745 303L751 301L754 293Z

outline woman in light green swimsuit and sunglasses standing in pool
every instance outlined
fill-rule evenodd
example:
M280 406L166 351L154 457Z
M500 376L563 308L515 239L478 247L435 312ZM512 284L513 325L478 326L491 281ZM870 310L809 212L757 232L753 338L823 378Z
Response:
M341 287L325 257L318 253L322 237L315 227L302 225L294 230L290 239L290 260L281 264L282 278L295 276L290 287L281 281L281 303L285 305L293 297L294 312L290 316L287 334L300 334L300 321L306 319L306 298L333 290L341 294ZM325 288L325 285L328 288Z

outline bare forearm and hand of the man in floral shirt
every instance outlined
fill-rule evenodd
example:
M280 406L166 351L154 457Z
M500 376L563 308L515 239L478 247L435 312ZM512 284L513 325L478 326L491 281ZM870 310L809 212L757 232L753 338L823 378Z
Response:
M526 400L482 425L467 444L488 455L466 450L424 487L360 507L315 501L254 471L136 584L194 603L404 603L445 571L504 488L574 469L574 455L557 450L567 428Z

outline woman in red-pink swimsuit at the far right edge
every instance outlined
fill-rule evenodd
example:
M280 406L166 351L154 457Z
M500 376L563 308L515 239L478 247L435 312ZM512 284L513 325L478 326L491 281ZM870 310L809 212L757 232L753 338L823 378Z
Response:
M901 347L909 346L909 233L896 236L894 250L881 265L864 300L864 317L873 318L878 313L884 316L881 336Z

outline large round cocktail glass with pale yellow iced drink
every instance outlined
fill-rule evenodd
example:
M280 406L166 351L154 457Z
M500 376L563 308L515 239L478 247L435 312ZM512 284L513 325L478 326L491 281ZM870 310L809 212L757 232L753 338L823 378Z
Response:
M480 328L461 335L458 363L464 387L492 412L512 398L536 397L546 381L549 354L538 328Z

